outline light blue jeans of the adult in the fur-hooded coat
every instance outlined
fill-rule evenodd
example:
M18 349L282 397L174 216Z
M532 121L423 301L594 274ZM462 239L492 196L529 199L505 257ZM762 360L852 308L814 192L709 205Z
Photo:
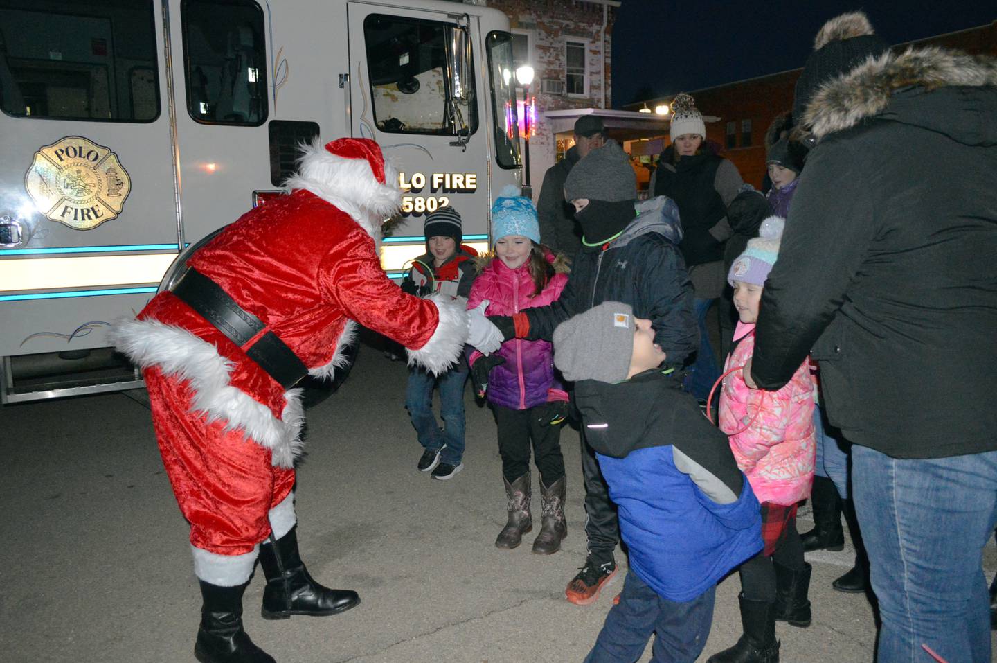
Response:
M851 491L882 626L878 663L990 663L983 546L997 524L997 452L893 459L851 448Z

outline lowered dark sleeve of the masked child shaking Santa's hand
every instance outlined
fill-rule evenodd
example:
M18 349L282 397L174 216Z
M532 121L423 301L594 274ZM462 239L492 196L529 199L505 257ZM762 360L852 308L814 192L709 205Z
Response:
M645 266L637 273L637 287L647 302L654 342L669 365L685 363L699 347L699 327L692 312L692 283L678 248L664 240L650 243Z

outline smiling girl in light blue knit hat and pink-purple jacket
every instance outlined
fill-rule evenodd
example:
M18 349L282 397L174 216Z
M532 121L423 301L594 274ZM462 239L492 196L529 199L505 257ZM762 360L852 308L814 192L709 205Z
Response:
M541 245L536 208L518 188L503 189L492 207L495 256L475 279L468 308L488 302L490 315L512 315L557 299L567 282L566 261ZM496 545L514 548L532 529L530 449L540 474L540 532L533 552L560 549L567 532L564 519L564 459L560 424L567 413L567 393L554 375L549 341L510 339L488 357L472 352L469 361L479 396L485 396L498 424L508 520Z

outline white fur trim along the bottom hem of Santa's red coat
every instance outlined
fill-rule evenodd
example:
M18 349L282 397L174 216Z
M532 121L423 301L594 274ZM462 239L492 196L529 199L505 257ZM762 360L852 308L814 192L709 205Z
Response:
M284 392L286 405L276 419L265 405L229 384L231 361L185 329L159 320L125 319L112 327L109 338L137 366L157 366L168 377L189 381L191 412L203 412L207 423L225 422L226 431L240 429L245 437L270 450L275 467L294 467L303 444L300 389Z

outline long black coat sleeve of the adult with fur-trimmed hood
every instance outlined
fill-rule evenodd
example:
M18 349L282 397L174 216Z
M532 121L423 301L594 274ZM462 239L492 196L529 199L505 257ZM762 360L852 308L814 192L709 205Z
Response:
M874 236L875 177L854 140L820 145L801 175L759 307L751 374L762 389L782 388L800 368L844 302Z

